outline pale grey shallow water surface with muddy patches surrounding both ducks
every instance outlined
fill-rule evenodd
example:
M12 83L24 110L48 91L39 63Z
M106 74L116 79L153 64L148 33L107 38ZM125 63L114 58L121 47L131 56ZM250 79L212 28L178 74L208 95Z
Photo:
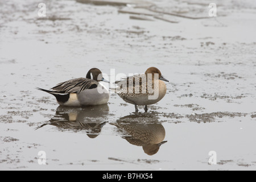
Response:
M207 17L200 2L151 1ZM217 17L170 23L71 0L44 1L42 18L36 1L1 1L0 169L255 170L256 4L216 2ZM106 105L69 108L35 89L93 67L112 83L157 67L167 94L135 116L114 92Z

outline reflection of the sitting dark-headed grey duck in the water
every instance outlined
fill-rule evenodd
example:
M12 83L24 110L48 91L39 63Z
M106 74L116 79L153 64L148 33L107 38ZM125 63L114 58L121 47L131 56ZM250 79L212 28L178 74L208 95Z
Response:
M102 127L108 122L108 112L107 104L85 107L59 106L55 116L49 120L50 123L43 124L36 130L46 125L52 125L75 132L85 130L89 138L96 138L101 133Z

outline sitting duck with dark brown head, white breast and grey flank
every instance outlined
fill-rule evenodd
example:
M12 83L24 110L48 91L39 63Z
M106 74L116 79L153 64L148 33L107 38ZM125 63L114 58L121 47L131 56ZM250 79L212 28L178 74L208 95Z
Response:
M36 89L52 94L59 105L63 106L101 105L109 101L109 90L100 81L109 82L102 77L100 69L92 68L86 78L61 82L51 90Z

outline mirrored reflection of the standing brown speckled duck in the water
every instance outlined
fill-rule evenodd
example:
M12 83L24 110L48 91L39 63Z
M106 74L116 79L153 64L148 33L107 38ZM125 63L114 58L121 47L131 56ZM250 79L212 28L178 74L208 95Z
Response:
M156 154L160 146L167 142L163 141L166 130L154 115L127 115L110 124L129 135L122 134L122 138L135 146L142 146L147 155Z

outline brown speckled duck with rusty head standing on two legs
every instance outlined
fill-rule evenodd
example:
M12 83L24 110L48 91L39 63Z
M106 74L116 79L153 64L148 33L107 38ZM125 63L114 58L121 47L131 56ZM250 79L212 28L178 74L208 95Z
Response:
M147 105L155 104L162 100L166 94L167 81L158 68L150 67L144 74L134 75L116 81L115 84L121 89L117 94L124 101L135 105L135 113L138 113L137 105L144 105L147 113Z

